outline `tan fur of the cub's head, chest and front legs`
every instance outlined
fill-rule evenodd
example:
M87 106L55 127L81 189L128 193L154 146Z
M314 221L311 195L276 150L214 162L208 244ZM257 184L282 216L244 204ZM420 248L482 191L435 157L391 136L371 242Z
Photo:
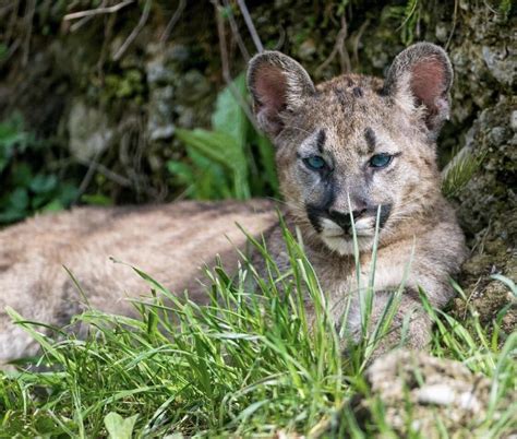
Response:
M263 67L267 67L267 76L256 87ZM275 78L275 68L277 76L304 84L293 87L287 81L282 94L273 99L268 94L277 91L266 82ZM359 298L365 294L372 266L376 207L389 205L390 214L380 230L372 325L407 271L394 331L383 348L399 342L405 319L409 324L407 343L423 347L430 321L419 287L433 306L443 307L454 294L448 278L459 271L465 258L464 236L442 197L435 159L434 141L448 117L450 62L441 48L424 43L401 52L386 81L348 74L314 87L301 71L300 64L279 52L256 56L249 71L258 120L277 146L287 222L301 230L337 324L351 300L347 325L358 339ZM274 111L270 102L280 110ZM385 169L374 170L369 159L380 153L394 158ZM308 168L304 161L315 155L325 159L325 171ZM356 221L360 285L351 233L344 233L332 217L332 212L347 217L350 211L366 211ZM277 229L272 232L268 248L280 265L288 264Z

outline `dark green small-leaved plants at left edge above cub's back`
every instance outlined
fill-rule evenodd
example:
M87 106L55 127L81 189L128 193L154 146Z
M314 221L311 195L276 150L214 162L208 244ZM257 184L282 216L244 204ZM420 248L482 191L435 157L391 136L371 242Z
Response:
M76 198L74 185L60 181L38 163L43 149L20 115L0 122L0 224L61 210Z

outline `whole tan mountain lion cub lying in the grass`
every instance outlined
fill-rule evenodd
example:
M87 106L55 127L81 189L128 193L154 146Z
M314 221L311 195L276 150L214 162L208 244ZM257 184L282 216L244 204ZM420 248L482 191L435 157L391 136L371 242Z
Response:
M360 333L352 220L360 266L368 278L380 217L373 320L404 281L388 345L408 323L407 343L422 347L430 321L418 287L431 304L452 297L448 277L464 260L464 237L440 191L435 140L449 112L450 62L441 48L416 44L399 54L385 81L346 74L315 86L293 59L255 56L248 81L256 118L276 146L288 227L298 228L330 309ZM203 301L199 266L220 254L236 266L235 247L264 233L280 268L288 264L274 205L268 201L179 202L165 206L95 209L38 216L0 233L0 361L34 354L35 343L10 322L5 306L28 320L62 325L81 312L69 268L93 307L131 313L124 298L148 287L136 265L173 292L189 288ZM228 239L229 238L229 239ZM410 261L411 260L411 261Z

